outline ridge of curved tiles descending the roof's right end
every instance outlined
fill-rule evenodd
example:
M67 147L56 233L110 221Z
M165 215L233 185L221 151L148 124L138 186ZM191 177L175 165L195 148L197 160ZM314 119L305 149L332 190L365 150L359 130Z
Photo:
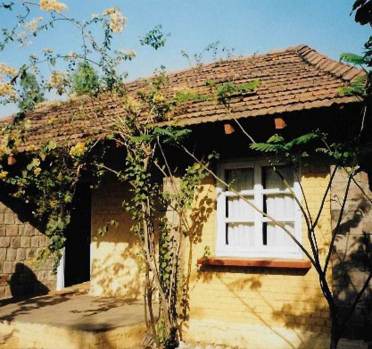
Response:
M344 81L350 82L357 76L365 75L363 70L355 68L350 64L329 58L308 45L299 45L296 47L296 51L297 54L308 64Z

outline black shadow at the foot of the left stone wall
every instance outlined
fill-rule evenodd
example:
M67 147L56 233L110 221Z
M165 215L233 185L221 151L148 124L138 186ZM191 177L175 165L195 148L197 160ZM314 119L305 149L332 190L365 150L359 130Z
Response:
M15 271L8 281L12 294L12 301L22 300L30 296L41 296L49 292L34 272L25 264L17 263Z

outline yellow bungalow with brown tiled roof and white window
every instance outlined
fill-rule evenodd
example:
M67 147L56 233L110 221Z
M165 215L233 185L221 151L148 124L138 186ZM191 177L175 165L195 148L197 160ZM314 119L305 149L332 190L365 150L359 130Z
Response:
M171 88L199 91L208 80L244 83L259 79L261 84L257 93L231 98L228 113L212 101L196 100L178 110L172 122L193 131L187 142L199 154L217 151L218 173L234 179L237 191L254 197L262 210L270 210L306 244L305 224L293 197L283 195L264 159L252 157L249 142L234 120L258 140L276 132L299 135L315 128L342 139L359 127L361 103L357 97L341 95L339 89L358 74L359 70L304 45L203 65L170 74ZM128 89L135 92L141 86L139 80ZM41 107L28 116L31 128L25 146L40 145L46 139L70 144L100 139L112 115L122 113L119 101L107 96ZM175 163L184 161L180 154L173 154L173 159ZM301 196L301 183L309 210L317 212L330 167L321 161L313 163L301 168L300 178L295 178L291 168L286 171L294 191ZM362 171L356 183L370 195L368 179L367 170ZM320 217L319 243L329 240L337 223L345 185L343 172L337 172ZM141 299L138 244L121 206L127 195L125 185L108 178L91 190L82 183L56 275L50 264L33 262L37 251L47 245L47 238L22 215L16 202L6 193L0 194L0 297L37 294L90 281L91 295ZM243 201L229 198L212 177L203 180L200 196L209 199L204 202L210 206L195 228L198 243L191 263L186 341L239 348L326 348L330 333L327 305L318 275L301 250L278 228L250 212ZM372 232L371 203L363 199L355 183L346 205L348 214L337 239L331 272L338 304L345 308L366 278L366 268L359 268L355 258L361 252L361 239L371 239ZM112 219L118 226L97 234L99 227ZM206 251L208 258L203 258ZM371 285L346 337L372 340L368 331L372 326L370 302Z

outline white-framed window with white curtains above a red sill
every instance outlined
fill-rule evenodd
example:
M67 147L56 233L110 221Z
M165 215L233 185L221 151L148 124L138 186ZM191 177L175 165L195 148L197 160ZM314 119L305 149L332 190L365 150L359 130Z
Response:
M277 167L299 197L293 168ZM252 208L252 202L301 241L301 211L290 190L267 162L226 162L219 176L230 184L217 186L217 255L247 258L301 258L301 250L281 227ZM239 193L239 195L237 195ZM242 199L241 197L244 197Z

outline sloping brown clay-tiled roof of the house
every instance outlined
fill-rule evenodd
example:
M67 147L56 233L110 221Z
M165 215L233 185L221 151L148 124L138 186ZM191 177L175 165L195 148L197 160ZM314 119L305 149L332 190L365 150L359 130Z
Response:
M338 90L359 74L360 70L305 45L202 65L169 74L170 89L206 93L208 80L239 84L259 79L261 84L255 93L231 98L230 113L214 100L189 101L174 110L170 122L193 125L355 103L357 97L341 96ZM129 83L128 91L135 94L144 84L144 80ZM110 128L112 116L123 113L120 99L107 94L46 106L27 116L31 128L26 143L40 145L49 139L74 143L99 137Z

